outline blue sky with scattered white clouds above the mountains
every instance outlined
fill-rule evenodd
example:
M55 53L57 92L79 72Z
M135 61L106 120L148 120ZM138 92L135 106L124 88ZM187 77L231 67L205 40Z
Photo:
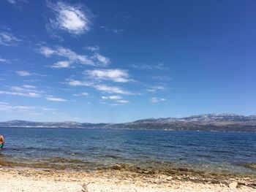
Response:
M1 0L0 121L256 114L256 1Z

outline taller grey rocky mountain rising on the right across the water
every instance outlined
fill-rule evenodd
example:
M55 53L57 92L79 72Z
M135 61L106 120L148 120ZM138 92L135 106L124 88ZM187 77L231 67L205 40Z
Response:
M111 125L112 128L177 130L177 131L253 131L256 132L256 115L205 114L187 118L150 118L132 123Z

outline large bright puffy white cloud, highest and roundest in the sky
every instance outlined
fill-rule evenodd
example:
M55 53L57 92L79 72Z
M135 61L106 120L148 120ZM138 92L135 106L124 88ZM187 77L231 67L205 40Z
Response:
M89 31L91 15L82 6L70 5L61 1L56 4L48 1L47 4L54 13L54 18L50 19L47 26L50 31L61 29L74 35L84 34Z

